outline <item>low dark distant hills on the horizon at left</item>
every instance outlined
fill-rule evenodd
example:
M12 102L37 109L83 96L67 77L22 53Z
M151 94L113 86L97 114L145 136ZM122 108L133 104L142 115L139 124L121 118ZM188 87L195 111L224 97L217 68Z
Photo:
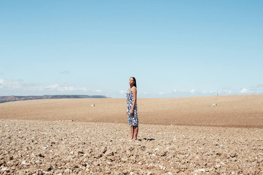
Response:
M43 96L0 96L0 103L18 100L62 99L62 98L110 98L103 95L43 95Z

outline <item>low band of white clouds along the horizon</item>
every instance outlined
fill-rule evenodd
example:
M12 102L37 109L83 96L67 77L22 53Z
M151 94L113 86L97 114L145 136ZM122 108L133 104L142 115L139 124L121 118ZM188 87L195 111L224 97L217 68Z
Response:
M83 92L88 93L95 93L95 94L101 94L101 93L107 93L110 96L116 95L116 93L125 94L127 91L120 90L115 92L109 92L107 89L89 89L87 87L75 87L75 86L69 86L69 85L59 85L59 84L53 84L53 85L47 85L47 86L39 86L35 85L34 83L26 83L25 80L19 79L19 80L5 80L0 79L0 92L2 95L6 94L21 94L24 95L27 94L45 94L45 93L71 93L71 94L82 94ZM188 96L209 96L209 95L240 95L240 94L262 94L263 92L263 85L262 84L256 84L250 86L251 88L241 88L239 90L236 90L233 92L233 90L222 90L222 91L202 91L202 90L171 90L171 91L162 91L162 92L141 92L138 93L138 96L140 98L140 95L142 98L144 97L154 97L155 95L159 95L159 97L188 97Z

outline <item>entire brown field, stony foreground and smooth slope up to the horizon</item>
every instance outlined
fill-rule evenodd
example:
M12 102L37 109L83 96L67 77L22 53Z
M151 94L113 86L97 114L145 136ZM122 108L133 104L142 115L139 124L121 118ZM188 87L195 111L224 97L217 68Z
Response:
M263 174L262 100L138 99L134 142L125 99L2 103L0 173Z

